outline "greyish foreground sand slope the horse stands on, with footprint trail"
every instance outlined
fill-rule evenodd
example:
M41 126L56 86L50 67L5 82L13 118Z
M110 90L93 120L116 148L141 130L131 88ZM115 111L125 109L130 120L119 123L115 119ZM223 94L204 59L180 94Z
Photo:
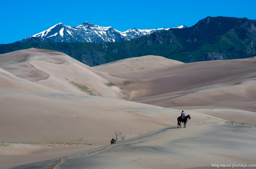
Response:
M13 168L191 168L212 164L255 164L256 128L189 124L163 128L126 142Z

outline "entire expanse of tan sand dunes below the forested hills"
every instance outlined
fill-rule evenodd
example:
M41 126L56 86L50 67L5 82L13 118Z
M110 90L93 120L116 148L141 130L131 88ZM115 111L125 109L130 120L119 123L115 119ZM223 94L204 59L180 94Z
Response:
M0 168L256 164L256 127L225 123L256 125L255 65L150 55L89 67L44 49L2 54ZM178 129L181 110L191 119ZM110 145L115 130L127 140Z

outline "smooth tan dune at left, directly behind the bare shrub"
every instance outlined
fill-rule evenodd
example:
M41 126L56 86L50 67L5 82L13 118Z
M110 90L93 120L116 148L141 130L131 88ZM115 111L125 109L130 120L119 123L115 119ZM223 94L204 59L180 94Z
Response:
M156 106L111 98L97 100L97 96L77 96L82 101L76 102L69 95L50 95L52 98L1 90L1 103L5 105L1 108L1 142L80 142L105 145L114 137L114 130L123 130L127 135L129 133L128 138L132 138L169 125L168 121L121 110L120 105L136 109ZM90 98L95 103L86 103ZM114 104L118 105L116 109ZM107 105L112 105L112 108ZM134 124L131 125L131 122Z

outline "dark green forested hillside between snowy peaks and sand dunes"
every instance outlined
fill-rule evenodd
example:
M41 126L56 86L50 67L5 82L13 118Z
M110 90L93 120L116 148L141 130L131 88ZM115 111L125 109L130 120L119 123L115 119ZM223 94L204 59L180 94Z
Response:
M128 57L159 55L185 63L256 55L256 20L207 17L192 27L152 33L131 41L2 44L0 53L31 47L60 51L95 66Z

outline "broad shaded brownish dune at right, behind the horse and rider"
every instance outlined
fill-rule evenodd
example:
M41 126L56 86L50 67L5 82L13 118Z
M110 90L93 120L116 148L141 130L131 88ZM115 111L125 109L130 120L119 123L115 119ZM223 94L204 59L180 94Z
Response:
M256 111L256 57L111 73L129 79L132 101L161 107L223 106Z

